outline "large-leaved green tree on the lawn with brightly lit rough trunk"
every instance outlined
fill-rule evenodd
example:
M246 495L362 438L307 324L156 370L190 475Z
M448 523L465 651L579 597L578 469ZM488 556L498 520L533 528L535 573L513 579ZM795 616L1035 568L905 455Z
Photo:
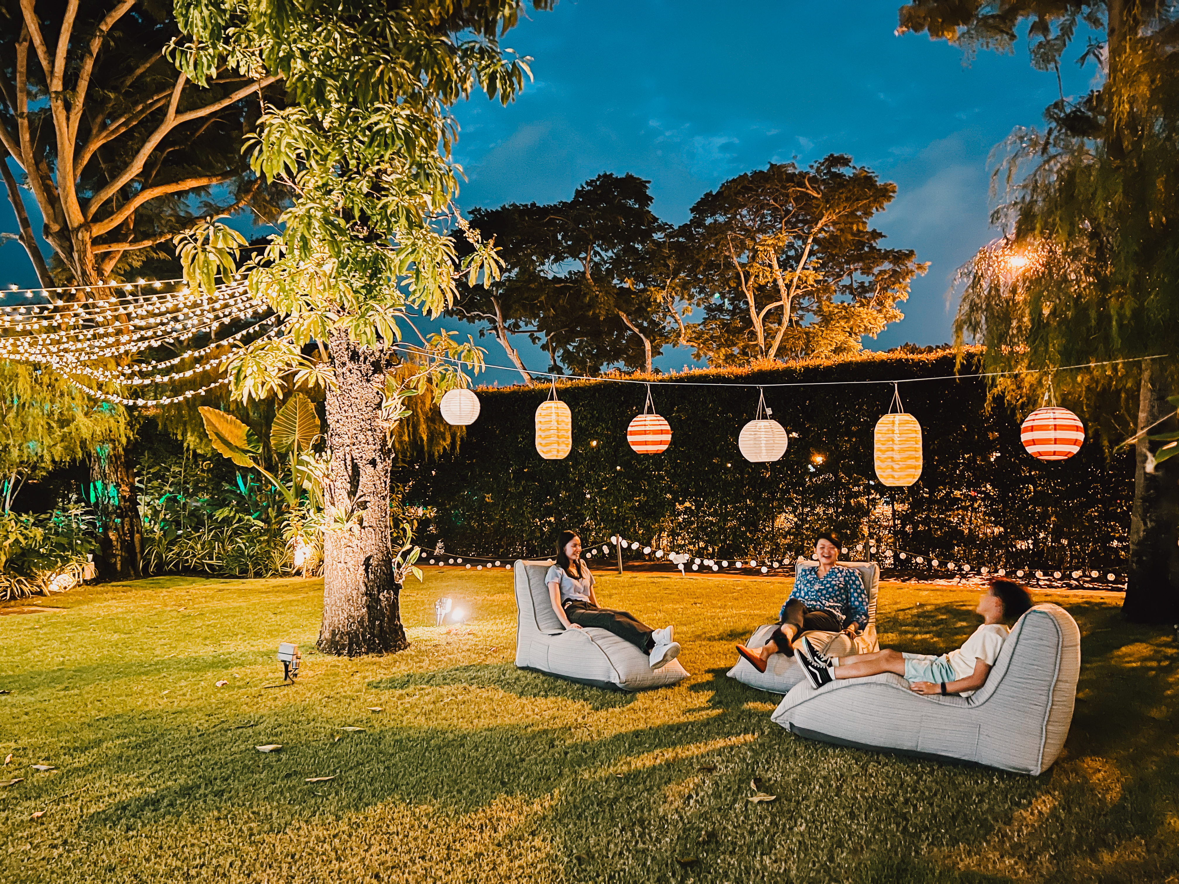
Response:
M496 272L474 231L466 231L474 249L462 259L448 236L465 224L452 204L457 127L449 107L474 90L503 101L519 92L527 59L499 40L522 8L518 0L177 4L187 37L174 58L186 77L282 78L291 100L266 108L250 161L266 180L289 183L294 204L264 258L245 268L251 291L290 317L290 337L250 350L236 372L258 380L253 392L277 390L308 370L302 348L322 347L330 361L318 641L329 653L407 646L399 600L408 561L390 526L394 428L407 411L395 345L407 310L437 315L454 302L459 275L474 284ZM213 260L198 248L193 270ZM433 362L419 376L433 378L436 391L461 383L452 363L435 357L474 358L465 347L427 342Z

